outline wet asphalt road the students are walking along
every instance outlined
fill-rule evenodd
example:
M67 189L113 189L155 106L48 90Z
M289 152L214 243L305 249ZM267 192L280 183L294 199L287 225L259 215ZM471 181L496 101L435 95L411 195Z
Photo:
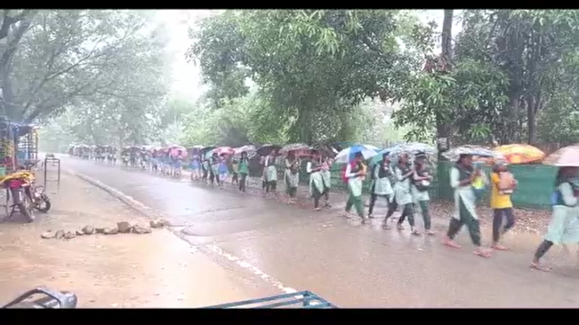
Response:
M162 213L182 237L263 296L309 289L342 307L577 307L579 271L531 271L534 251L472 255L440 245L441 235L361 226L339 210L314 212L235 191L62 156L74 170ZM343 206L343 203L342 203ZM379 211L380 212L380 211ZM382 215L382 213L377 213ZM537 240L538 241L538 240ZM553 254L556 255L556 254Z

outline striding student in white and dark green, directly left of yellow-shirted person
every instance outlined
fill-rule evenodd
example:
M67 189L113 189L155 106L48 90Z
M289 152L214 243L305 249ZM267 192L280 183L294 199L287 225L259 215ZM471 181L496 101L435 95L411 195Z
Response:
M458 162L450 170L450 186L454 188L454 216L450 218L450 225L444 244L454 249L461 245L454 242L462 226L469 230L470 240L475 245L474 253L483 258L490 258L490 250L482 247L480 242L480 225L476 210L477 198L472 187L473 181L480 178L481 171L472 166L472 155L460 155Z

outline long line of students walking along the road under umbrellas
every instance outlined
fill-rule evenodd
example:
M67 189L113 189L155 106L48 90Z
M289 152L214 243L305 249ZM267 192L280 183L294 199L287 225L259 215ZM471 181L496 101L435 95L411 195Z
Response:
M330 208L331 169L340 154L335 155L335 153L324 150L308 148L307 154L304 155L303 150L285 150L281 153L279 149L279 147L271 147L267 154L261 155L261 190L263 194L269 198L277 196L277 178L281 176L287 202L289 204L295 203L302 161L305 160L305 171L309 178L308 186L310 198L313 201L313 209ZM575 155L579 157L579 147L575 149ZM250 173L249 151L237 151L237 149L230 148L221 148L220 150L217 148L205 155L202 150L193 150L192 154L185 159L187 155L181 155L185 152L184 150L174 151L175 155L171 155L172 151L168 150L165 155L169 158L165 160L159 160L160 155L157 154L157 151L153 150L152 152L153 155L142 155L141 159L144 162L141 165L149 165L149 169L152 171L157 171L157 165L166 160L165 164L172 166L172 170L179 170L178 176L181 176L181 164L187 162L185 165L189 166L193 181L217 184L222 187L230 179L231 183L238 186L240 192L245 193L246 191ZM401 215L396 224L398 230L403 230L404 223L407 221L413 235L435 234L430 220L429 190L433 178L429 155L399 152L393 156L390 155L390 152L383 152L382 154L374 153L372 157L369 157L361 151L352 151L351 154L341 172L342 181L347 184L349 193L343 211L344 217L358 217L362 224L366 224L368 218L375 216L376 202L384 200L388 204L388 210L382 222L384 229L390 229L390 218L396 210L400 210ZM135 156L140 157L140 155ZM501 243L501 238L515 225L511 194L516 190L518 182L508 170L505 161L492 160L494 162L493 168L487 176L481 165L473 162L475 156L477 155L462 152L456 155L451 167L450 186L454 190L454 214L450 217L443 243L450 248L461 248L458 243L454 242L454 238L464 226L468 230L470 241L475 246L474 254L489 258L493 250L508 250ZM369 163L369 158L373 158L374 163ZM575 162L576 158L567 160ZM179 163L171 163L173 161ZM370 167L368 164L371 164ZM549 270L548 267L543 266L541 259L554 244L579 242L579 186L577 186L579 182L576 180L578 170L579 167L571 163L559 163L554 184L555 190L551 198L553 206L551 223L531 262L531 267L535 269ZM278 173L278 171L280 172ZM366 216L362 190L364 181L368 177L371 178L371 185L370 202ZM493 225L492 244L490 249L486 249L483 248L481 242L477 203L479 197L489 187ZM355 211L354 213L352 209ZM416 226L415 217L418 214L422 216L422 229Z

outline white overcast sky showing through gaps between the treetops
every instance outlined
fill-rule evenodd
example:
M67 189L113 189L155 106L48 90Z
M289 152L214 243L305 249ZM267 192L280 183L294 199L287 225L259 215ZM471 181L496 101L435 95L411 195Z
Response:
M187 62L185 52L190 44L189 26L214 12L212 10L159 10L157 12L158 22L166 26L171 37L167 50L173 58L173 92L179 96L194 100L205 91L201 83L199 68ZM454 15L460 15L460 11L455 11ZM436 21L439 29L443 16L442 10L424 10L419 13L419 17L425 22ZM461 27L460 21L455 19L453 34L460 31Z

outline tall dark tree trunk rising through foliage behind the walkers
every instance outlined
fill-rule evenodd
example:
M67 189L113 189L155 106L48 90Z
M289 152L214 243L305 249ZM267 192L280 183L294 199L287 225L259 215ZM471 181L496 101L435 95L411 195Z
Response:
M452 65L453 59L453 44L452 44L452 37L453 37L453 9L445 9L445 18L442 22L442 35L441 35L441 48L442 52L440 53L440 59L443 62L446 62L444 65L446 68L450 68ZM446 120L443 119L442 116L436 116L436 123L437 123L437 141L438 141L438 148L444 149L446 147L449 148L450 138L452 135L452 124L448 123ZM444 157L440 155L443 150L438 150L439 156L438 159L444 160Z

